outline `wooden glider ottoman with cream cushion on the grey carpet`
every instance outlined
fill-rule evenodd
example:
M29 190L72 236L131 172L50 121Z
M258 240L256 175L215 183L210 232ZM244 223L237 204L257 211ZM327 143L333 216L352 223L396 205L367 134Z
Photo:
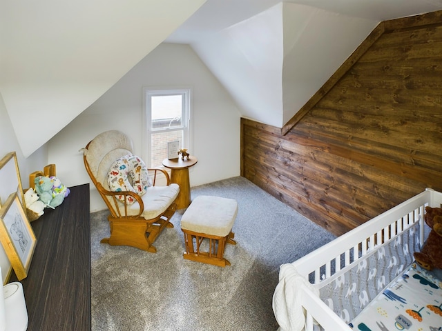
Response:
M236 214L236 200L207 195L196 197L181 218L186 245L184 259L220 267L230 265L224 259L224 247L227 243L236 245L232 232Z

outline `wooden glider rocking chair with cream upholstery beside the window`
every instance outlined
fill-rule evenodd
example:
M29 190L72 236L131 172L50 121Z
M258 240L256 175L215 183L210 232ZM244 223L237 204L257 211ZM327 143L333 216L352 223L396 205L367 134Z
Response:
M140 197L128 190L113 192L108 184L111 167L115 166L115 161L133 154L132 141L123 132L111 130L99 134L88 143L83 153L86 171L111 212L108 216L111 236L101 242L133 246L155 253L155 239L165 227L173 228L169 220L175 213L175 199L180 187L170 182L165 170L147 169L153 179L144 195ZM167 184L155 186L161 174L166 177ZM128 203L134 200L134 203Z

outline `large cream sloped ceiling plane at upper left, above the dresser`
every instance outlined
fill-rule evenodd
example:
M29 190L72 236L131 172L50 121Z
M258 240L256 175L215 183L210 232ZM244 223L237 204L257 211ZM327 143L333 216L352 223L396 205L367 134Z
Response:
M0 92L25 157L205 0L1 0Z

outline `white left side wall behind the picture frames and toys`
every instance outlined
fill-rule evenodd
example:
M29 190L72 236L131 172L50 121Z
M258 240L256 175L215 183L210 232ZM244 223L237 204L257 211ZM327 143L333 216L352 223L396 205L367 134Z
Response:
M17 137L15 136L14 130L12 130L12 124L8 116L8 112L6 111L5 103L3 102L3 98L0 94L0 159L6 156L9 152L16 152L17 161L19 163L19 172L21 177L21 185L23 188L29 187L29 174L34 172L35 170L43 170L44 165L47 164L48 155L46 148L40 148L35 153L33 153L30 157L25 159L23 157L23 153L19 148L19 142L17 141ZM9 162L8 162L9 163ZM1 170L0 170L1 172ZM8 171L9 172L9 171ZM6 197L9 196L10 193L15 192L17 190L17 182L18 179L15 178L5 179L1 176L2 181L0 185L0 204L4 203ZM0 245L0 268L2 274L3 283L8 277L8 273L12 271L10 262L8 257L6 256L3 247Z

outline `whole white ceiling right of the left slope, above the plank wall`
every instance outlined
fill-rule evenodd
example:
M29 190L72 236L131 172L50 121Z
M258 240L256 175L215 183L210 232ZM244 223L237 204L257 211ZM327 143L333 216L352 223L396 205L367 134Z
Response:
M282 127L378 23L442 0L209 0L166 41L189 43L243 117Z

